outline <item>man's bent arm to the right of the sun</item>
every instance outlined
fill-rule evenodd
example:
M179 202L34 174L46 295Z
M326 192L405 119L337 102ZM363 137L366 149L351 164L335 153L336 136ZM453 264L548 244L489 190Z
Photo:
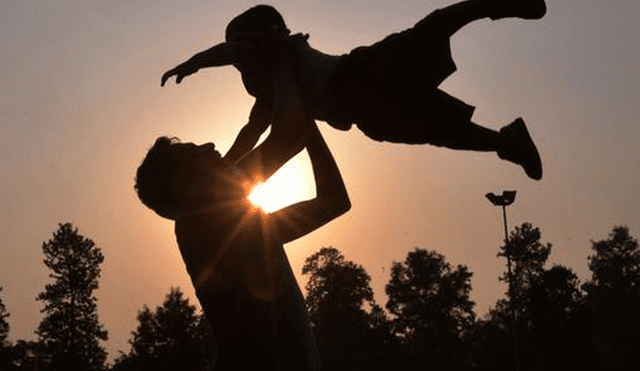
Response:
M351 201L333 155L313 120L309 126L307 153L316 183L316 197L295 203L269 215L282 243L310 233L351 209Z

